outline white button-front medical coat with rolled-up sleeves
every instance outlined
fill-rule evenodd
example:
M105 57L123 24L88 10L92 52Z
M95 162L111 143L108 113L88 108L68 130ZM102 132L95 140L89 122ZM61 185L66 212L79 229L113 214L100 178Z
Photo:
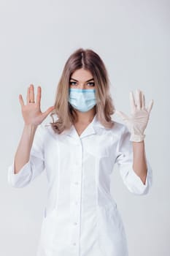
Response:
M36 256L128 256L125 229L117 203L110 194L115 163L125 186L135 195L147 194L152 169L147 160L147 180L133 170L132 143L125 124L115 121L106 129L93 121L79 136L76 129L61 135L45 124L36 129L29 161L8 182L25 187L44 170L47 205Z

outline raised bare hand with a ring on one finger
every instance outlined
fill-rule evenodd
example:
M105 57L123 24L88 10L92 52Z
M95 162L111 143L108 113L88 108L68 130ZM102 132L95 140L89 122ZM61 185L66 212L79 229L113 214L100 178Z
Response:
M41 86L37 87L36 102L34 101L34 85L31 84L27 90L26 105L24 105L23 97L20 94L19 100L23 115L23 120L26 125L38 126L45 120L47 115L54 109L53 107L48 108L42 113L40 108L42 89Z

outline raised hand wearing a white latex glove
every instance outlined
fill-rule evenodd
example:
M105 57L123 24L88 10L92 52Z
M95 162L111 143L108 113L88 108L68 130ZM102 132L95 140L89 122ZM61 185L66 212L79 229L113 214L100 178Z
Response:
M140 90L136 90L136 99L131 91L129 94L131 104L131 116L125 115L125 113L115 110L123 121L125 122L128 130L131 132L131 141L140 142L144 140L144 129L147 127L150 111L152 110L153 100L150 101L147 108L145 108L144 94Z

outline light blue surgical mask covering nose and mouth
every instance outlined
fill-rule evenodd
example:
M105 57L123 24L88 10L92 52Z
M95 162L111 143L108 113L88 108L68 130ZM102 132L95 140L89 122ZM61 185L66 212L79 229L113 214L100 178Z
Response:
M87 112L96 105L96 90L70 88L69 103L80 112Z

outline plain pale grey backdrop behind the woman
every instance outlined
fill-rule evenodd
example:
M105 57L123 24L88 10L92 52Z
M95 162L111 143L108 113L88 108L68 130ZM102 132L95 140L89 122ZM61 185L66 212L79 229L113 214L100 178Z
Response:
M144 196L131 194L115 167L112 196L129 255L169 256L170 1L1 0L0 38L0 255L36 255L47 196L45 173L22 189L7 184L23 130L18 96L26 100L31 83L42 86L45 111L66 60L77 48L90 48L107 67L117 110L130 114L129 91L144 91L146 105L154 99L145 131L152 188Z

